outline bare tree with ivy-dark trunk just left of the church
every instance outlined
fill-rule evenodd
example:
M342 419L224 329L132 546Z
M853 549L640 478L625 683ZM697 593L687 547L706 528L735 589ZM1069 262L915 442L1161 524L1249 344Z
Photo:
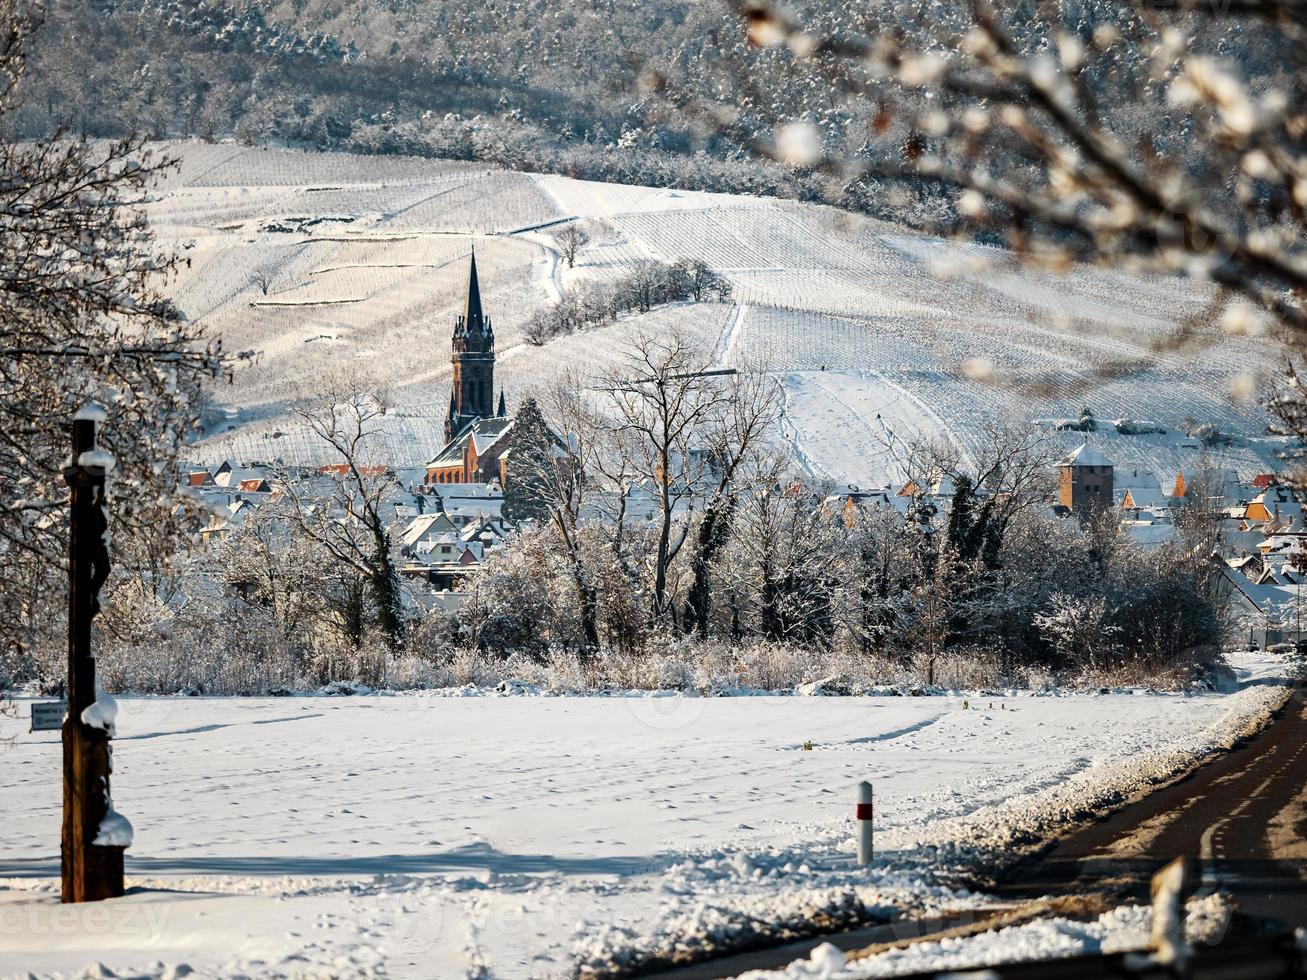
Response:
M340 378L328 382L319 400L294 410L336 460L314 474L289 476L297 527L367 581L376 625L399 645L403 593L387 507L400 487L374 446L387 400L361 378Z

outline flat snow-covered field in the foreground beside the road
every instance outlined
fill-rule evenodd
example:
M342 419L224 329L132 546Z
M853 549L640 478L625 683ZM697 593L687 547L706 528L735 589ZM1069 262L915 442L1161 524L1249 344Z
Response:
M131 892L82 907L58 903L58 736L7 717L0 975L567 976L819 911L962 906L946 885L1013 832L1276 702L1259 657L1200 695L124 699Z

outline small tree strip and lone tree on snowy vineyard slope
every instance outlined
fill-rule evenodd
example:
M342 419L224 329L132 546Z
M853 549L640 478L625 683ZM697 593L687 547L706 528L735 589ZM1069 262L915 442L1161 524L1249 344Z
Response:
M574 239L562 243L569 264L575 257ZM647 314L664 303L695 303L731 299L731 282L701 259L661 263L648 259L617 280L587 282L569 291L550 307L537 310L527 321L524 336L541 345L553 337L591 329L625 312Z

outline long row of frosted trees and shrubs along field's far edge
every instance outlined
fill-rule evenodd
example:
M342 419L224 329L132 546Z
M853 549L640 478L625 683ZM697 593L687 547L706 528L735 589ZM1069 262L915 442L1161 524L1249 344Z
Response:
M303 421L337 465L281 473L221 542L150 575L118 570L99 622L110 677L251 694L395 683L401 661L427 669L406 682L439 682L473 655L570 660L597 683L600 665L657 660L674 640L680 656L750 662L806 651L808 676L791 665L778 683L830 664L929 683L945 664L1120 677L1219 651L1209 515L1182 514L1178 540L1146 550L1111 514L1078 529L1047 507L1055 446L997 429L966 460L897 447L919 487L899 506L836 491L778 447L774 379L724 371L674 335L524 401L503 508L518 533L456 613L423 614L397 574L399 487L370 449L384 400L359 380L328 388ZM51 632L0 673L55 687L60 649Z

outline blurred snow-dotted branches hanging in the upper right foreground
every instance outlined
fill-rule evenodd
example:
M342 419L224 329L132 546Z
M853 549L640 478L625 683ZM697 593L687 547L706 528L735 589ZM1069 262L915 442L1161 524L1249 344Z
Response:
M759 152L843 180L925 179L1027 261L1199 276L1307 331L1299 4L1055 0L1018 16L968 0L914 34L736 9L754 43L788 48L902 140L847 157L799 123Z

